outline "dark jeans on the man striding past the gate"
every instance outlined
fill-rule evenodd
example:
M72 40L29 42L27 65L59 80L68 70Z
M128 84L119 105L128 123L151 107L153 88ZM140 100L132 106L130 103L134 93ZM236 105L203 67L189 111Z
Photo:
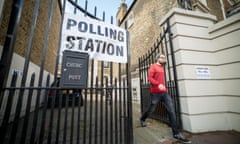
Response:
M148 107L147 111L143 113L141 120L145 121L149 114L153 113L158 105L158 103L162 101L165 108L167 109L170 124L172 127L173 134L178 134L176 115L174 111L174 106L172 103L172 99L168 93L152 93L151 94L151 105Z

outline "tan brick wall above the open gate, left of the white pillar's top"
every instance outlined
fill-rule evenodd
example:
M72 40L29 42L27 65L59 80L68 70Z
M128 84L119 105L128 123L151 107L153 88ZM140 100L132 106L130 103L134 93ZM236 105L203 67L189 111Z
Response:
M150 49L159 37L161 18L173 7L177 6L176 0L138 0L130 10L134 23L128 30L130 32L131 71L138 67L138 58ZM122 27L127 18L122 22Z

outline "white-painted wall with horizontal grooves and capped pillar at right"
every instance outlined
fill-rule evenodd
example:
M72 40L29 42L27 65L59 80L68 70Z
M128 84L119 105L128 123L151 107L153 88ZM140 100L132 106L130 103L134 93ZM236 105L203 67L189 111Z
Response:
M183 128L240 131L240 14L216 23L210 14L173 9L170 17ZM197 77L196 67L208 69Z

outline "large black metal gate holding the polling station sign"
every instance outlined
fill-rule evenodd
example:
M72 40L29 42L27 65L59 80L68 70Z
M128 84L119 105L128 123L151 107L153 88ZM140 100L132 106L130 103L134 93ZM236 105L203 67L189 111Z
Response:
M54 45L49 41L49 35L53 33L53 11L58 8L63 15L66 1L64 0L63 4L60 0L48 1L49 9L45 9L48 11L45 35L41 43L40 40L33 41L36 23L44 19L42 15L39 16L44 12L40 10L41 2L35 0L32 1L32 22L30 27L25 27L30 32L23 56L23 67L21 71L16 70L11 64L25 2L12 2L0 61L0 143L132 144L129 52L127 64L89 60L88 87L62 89L59 87L61 78L58 76L58 63L61 59L59 54L54 58L56 64L50 66L55 67L53 72L46 70L48 62L45 59L49 51L48 46ZM77 4L77 0L68 2L74 6L74 12L78 11L100 20L96 17L96 8L94 15L87 12L87 1L85 9ZM102 20L105 21L105 13ZM32 67L31 61L34 43L43 45L40 63L36 64L37 70ZM55 44L57 51L58 45Z

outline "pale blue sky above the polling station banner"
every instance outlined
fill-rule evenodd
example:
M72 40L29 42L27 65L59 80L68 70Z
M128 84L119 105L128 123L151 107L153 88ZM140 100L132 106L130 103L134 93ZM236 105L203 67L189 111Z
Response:
M75 1L75 0L74 0ZM82 8L85 8L85 1L86 0L77 0L78 5ZM116 13L118 11L118 8L120 7L120 4L122 3L122 0L87 0L88 2L88 12L94 15L94 8L97 7L97 17L101 18L103 17L103 11L105 12L105 22L111 23L111 16L113 16L113 24L116 23L115 17ZM132 4L133 0L125 0L128 8ZM70 4L71 5L71 4ZM73 12L72 6L67 6L66 8L67 12ZM80 12L77 12L80 13Z

